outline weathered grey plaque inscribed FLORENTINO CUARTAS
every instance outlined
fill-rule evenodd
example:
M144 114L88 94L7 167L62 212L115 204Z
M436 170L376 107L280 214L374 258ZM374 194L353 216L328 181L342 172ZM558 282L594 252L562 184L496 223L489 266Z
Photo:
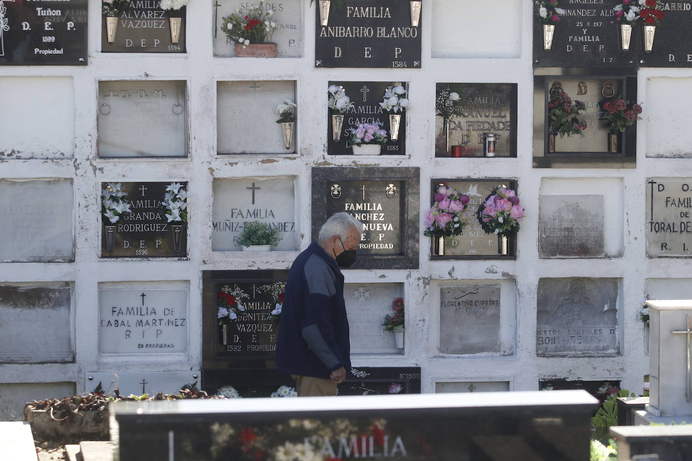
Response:
M500 352L500 285L443 285L439 290L439 351Z

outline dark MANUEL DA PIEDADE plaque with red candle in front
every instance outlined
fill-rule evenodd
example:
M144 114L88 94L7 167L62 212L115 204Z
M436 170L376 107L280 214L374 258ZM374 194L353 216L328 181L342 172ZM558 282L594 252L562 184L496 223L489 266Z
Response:
M485 133L495 133L495 156L517 155L516 83L438 83L459 91L459 115L448 121L449 148L446 149L444 122L436 117L435 157L483 157Z

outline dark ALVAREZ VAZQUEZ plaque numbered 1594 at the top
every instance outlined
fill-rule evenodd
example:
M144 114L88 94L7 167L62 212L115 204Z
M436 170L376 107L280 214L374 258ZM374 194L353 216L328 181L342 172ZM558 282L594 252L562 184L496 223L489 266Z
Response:
M108 43L106 18L101 19L101 50L103 53L185 53L185 10L180 9L180 37L171 39L170 12L161 9L159 0L132 0L129 8L118 17L116 40Z

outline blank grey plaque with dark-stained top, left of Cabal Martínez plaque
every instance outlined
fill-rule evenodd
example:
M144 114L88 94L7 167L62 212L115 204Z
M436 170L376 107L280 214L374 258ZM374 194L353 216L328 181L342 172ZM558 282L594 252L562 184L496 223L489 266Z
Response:
M70 319L69 285L0 285L0 361L72 361Z

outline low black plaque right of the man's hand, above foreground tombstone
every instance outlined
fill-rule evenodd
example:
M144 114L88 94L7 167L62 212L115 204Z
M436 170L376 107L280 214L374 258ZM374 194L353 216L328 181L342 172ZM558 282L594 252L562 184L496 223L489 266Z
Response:
M338 385L338 395L392 395L421 393L421 368L353 367Z

